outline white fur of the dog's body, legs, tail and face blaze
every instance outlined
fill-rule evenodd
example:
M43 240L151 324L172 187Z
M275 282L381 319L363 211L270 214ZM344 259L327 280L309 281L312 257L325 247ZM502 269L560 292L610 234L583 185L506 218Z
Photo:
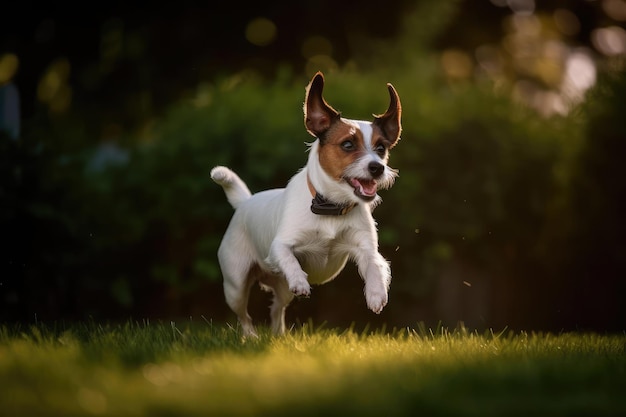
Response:
M377 178L379 188L391 186L395 170L387 167L369 143L369 122L346 120L361 130L366 152L345 170L366 178L367 166L384 165ZM285 309L294 296L309 296L311 284L334 279L350 259L364 280L367 307L380 313L387 304L391 282L389 263L378 252L378 233L372 210L380 197L366 202L346 181L326 174L319 161L319 139L309 147L308 161L286 188L251 195L245 183L230 169L217 166L211 178L220 184L236 209L218 250L224 276L226 302L237 314L244 336L256 332L248 314L248 297L254 282L274 293L271 325L275 334L285 332ZM311 212L314 188L331 201L358 203L345 215L326 216Z

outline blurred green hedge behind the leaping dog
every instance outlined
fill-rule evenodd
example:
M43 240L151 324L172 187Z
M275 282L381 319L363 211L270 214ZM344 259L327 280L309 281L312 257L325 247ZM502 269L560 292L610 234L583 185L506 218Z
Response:
M326 74L326 99L346 117L382 113L386 82L402 100L390 160L400 177L375 212L399 295L388 308L411 318L441 291L442 269L460 264L486 277L482 324L623 326L626 73L568 116L540 117L491 85L439 75L424 45L454 10L423 5L393 46L373 43ZM3 315L210 310L232 210L209 171L230 166L252 191L283 187L312 140L307 82L288 67L271 80L216 78L96 146L71 115L31 120L19 141L2 136L3 282L14 294Z

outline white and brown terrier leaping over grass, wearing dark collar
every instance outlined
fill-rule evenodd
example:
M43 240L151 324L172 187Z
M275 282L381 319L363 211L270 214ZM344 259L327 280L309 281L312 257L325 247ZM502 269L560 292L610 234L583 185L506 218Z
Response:
M398 171L387 165L400 140L400 98L387 84L389 107L371 122L345 119L323 98L324 75L305 89L304 124L315 138L308 160L285 188L251 194L229 168L216 166L235 212L218 249L224 295L243 335L257 337L248 314L255 282L273 292L272 332L285 332L285 310L295 296L308 297L311 285L334 279L348 259L365 282L367 307L380 313L388 301L389 262L378 252L372 211L377 191L393 185Z

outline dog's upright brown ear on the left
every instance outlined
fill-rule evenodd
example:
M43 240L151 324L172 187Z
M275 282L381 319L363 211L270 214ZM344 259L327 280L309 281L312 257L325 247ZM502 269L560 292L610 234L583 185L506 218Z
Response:
M304 99L304 125L306 130L315 137L320 137L339 119L339 112L333 109L322 97L324 75L317 72L306 87Z

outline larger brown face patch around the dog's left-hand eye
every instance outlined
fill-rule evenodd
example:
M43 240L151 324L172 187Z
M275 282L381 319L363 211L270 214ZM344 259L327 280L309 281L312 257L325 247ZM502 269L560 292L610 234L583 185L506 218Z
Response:
M339 120L320 140L320 165L330 177L341 181L345 169L365 152L363 133L356 126Z

